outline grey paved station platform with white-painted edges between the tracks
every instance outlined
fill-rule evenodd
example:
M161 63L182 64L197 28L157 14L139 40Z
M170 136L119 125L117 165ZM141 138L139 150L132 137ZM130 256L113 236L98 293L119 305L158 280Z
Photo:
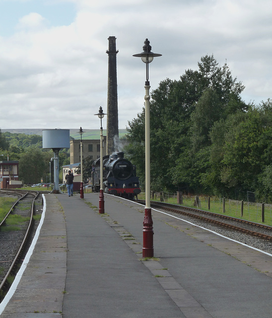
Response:
M154 258L145 260L144 207L105 195L100 215L98 193L45 200L1 318L272 317L272 255L152 210Z

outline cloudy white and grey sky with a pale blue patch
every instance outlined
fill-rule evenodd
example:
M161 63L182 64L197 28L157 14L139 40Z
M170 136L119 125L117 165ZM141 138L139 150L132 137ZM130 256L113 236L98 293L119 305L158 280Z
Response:
M99 129L109 36L120 129L143 107L145 65L132 55L145 38L162 54L151 90L213 54L246 86L245 102L272 98L271 0L0 0L0 128Z

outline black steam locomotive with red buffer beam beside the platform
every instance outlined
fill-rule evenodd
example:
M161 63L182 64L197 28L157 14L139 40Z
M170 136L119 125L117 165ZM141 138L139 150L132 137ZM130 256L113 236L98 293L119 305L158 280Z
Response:
M92 191L100 189L100 158L92 164L91 175ZM139 178L136 176L136 167L124 153L116 153L103 157L103 189L105 193L134 200L141 192Z

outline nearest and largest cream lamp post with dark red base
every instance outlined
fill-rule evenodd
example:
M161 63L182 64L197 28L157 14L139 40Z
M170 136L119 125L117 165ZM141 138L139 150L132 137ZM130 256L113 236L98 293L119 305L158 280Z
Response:
M145 63L145 208L144 208L144 220L143 220L143 244L142 244L142 257L153 257L153 221L150 207L150 95L149 95L149 74L148 65L153 61L154 57L161 56L151 52L151 46L148 39L145 39L142 47L143 52L134 54L133 56L141 58L142 62Z

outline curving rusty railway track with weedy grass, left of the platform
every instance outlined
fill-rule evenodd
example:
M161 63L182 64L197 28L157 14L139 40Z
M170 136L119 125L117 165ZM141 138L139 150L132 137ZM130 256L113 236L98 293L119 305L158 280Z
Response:
M0 190L0 195L17 196L7 215L0 221L0 301L10 287L10 280L23 260L42 212L42 197L38 191ZM16 226L11 225L16 219ZM36 219L36 220L34 220ZM10 279L11 278L11 279Z

